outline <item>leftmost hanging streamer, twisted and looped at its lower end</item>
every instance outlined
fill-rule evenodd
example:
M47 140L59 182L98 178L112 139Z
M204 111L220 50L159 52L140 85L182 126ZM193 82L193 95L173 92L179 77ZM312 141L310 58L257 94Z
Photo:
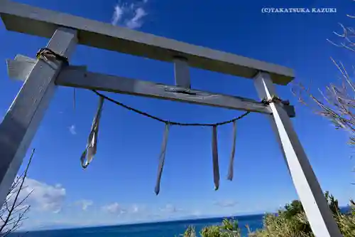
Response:
M94 159L94 155L97 151L97 134L99 133L99 122L102 112L102 106L104 105L104 98L99 98L99 107L97 107L97 112L92 121L92 127L89 134L89 139L87 139L87 147L82 152L82 157L80 157L80 162L82 164L82 168L86 169L87 166L92 162Z

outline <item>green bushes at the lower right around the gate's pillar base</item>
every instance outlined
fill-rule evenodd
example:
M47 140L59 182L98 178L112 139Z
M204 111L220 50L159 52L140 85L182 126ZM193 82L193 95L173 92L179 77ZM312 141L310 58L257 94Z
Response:
M325 193L329 208L332 210L335 221L344 237L355 236L355 203L350 201L350 209L342 213L337 199ZM249 230L249 226L246 226ZM189 226L183 237L195 237L195 228ZM238 221L224 219L220 226L206 226L200 231L202 237L241 237ZM263 219L263 228L255 232L249 230L249 237L314 237L307 221L307 216L300 201L294 200L286 204L276 214L266 214Z

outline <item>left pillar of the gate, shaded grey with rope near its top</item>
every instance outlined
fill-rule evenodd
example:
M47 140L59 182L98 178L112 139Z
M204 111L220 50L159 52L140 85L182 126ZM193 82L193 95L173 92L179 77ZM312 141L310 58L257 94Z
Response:
M47 48L68 58L74 51L76 44L77 31L58 28ZM31 60L29 63L32 63ZM26 155L45 110L55 93L55 78L61 67L62 62L59 60L41 58L35 60L30 71L24 70L17 73L18 76L25 76L26 80L0 124L1 203L6 199L13 179L21 167L23 157ZM29 74L23 75L23 73Z

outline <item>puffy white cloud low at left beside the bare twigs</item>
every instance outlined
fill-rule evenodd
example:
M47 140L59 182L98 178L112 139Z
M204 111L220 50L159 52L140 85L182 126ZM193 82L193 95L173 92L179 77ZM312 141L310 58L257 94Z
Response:
M18 196L18 201L24 199L32 191L23 203L23 205L31 205L31 210L58 213L62 209L66 195L62 186L58 184L52 186L35 179L26 178L23 187L24 189Z

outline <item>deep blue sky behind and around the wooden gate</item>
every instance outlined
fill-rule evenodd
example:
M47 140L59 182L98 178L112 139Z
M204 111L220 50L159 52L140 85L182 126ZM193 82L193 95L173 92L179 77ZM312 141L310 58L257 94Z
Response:
M266 60L293 68L298 81L314 89L339 75L329 59L351 65L354 56L327 43L338 22L354 26L351 1L82 1L23 0L26 4L88 19L116 23L196 45ZM353 5L351 5L353 4ZM262 14L263 7L335 7L336 14ZM6 58L34 57L48 39L6 31L0 23L0 113L5 115L21 83L6 74ZM173 84L173 65L78 46L73 65L89 70ZM258 99L251 80L191 69L192 87ZM92 226L154 221L186 216L222 216L275 211L297 198L266 117L251 114L237 122L234 181L226 181L231 125L219 127L221 184L214 191L211 129L172 127L159 196L154 194L164 125L105 102L97 156L87 170L80 154L87 142L97 96L58 88L31 147L36 148L27 181L34 189L25 227ZM354 198L354 181L345 132L298 104L290 86L278 87L296 107L295 130L322 189L340 204ZM219 122L241 112L178 102L111 95L112 98L168 120ZM28 157L25 159L25 163ZM21 168L23 169L23 168Z

